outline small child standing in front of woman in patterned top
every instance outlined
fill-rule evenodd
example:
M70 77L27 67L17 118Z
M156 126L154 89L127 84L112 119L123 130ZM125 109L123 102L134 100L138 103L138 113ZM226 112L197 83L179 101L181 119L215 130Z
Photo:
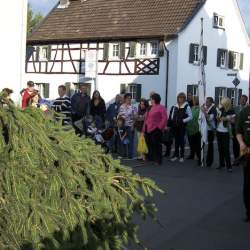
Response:
M125 126L125 119L117 119L117 137L118 137L118 154L122 157L128 157L128 128Z

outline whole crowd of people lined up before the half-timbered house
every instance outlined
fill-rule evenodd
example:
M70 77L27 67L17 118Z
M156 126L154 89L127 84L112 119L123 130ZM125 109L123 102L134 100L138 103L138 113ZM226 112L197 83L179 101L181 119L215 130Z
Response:
M217 169L225 168L232 172L232 166L239 165L239 159L248 155L244 168L244 201L247 208L247 221L250 221L250 106L248 97L242 95L239 105L232 106L231 99L225 97L217 107L212 97L206 98L203 106L199 99L190 93L180 93L176 104L168 113L161 105L158 93L151 92L149 99L142 98L138 107L132 104L132 95L118 94L113 103L106 107L99 91L94 91L92 98L84 84L71 98L66 95L66 87L58 87L59 97L51 108L62 125L72 125L76 134L87 135L88 131L108 130L107 147L126 159L140 159L157 165L162 164L163 156L172 162L183 163L185 159L197 160L201 165L201 133L199 129L200 112L207 120L206 167L214 163L214 143L217 138L219 164ZM8 98L12 90L4 89ZM22 108L39 107L46 103L42 100L34 83L29 81L21 92ZM140 137L145 140L147 150L138 155ZM231 162L233 145L234 161ZM189 143L189 155L185 158L185 145ZM163 154L163 145L165 154ZM173 146L174 145L174 146ZM173 150L172 150L173 147ZM247 151L247 154L244 152ZM172 153L173 152L173 153Z

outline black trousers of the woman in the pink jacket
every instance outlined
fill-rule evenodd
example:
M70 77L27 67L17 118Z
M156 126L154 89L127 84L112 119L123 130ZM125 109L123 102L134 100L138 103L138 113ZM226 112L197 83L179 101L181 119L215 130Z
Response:
M162 131L156 129L151 133L145 134L146 143L148 146L148 160L162 163Z

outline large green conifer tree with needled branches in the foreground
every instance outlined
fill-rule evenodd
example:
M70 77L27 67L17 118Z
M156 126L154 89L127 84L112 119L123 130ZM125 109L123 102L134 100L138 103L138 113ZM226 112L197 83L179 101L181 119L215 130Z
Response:
M0 96L0 249L121 249L161 190L40 110ZM7 103L7 104L6 104Z

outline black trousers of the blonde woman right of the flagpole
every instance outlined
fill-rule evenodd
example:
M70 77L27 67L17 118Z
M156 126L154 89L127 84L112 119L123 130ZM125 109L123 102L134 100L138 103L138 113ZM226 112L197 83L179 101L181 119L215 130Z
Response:
M230 135L229 133L217 132L220 167L231 168L230 158Z

